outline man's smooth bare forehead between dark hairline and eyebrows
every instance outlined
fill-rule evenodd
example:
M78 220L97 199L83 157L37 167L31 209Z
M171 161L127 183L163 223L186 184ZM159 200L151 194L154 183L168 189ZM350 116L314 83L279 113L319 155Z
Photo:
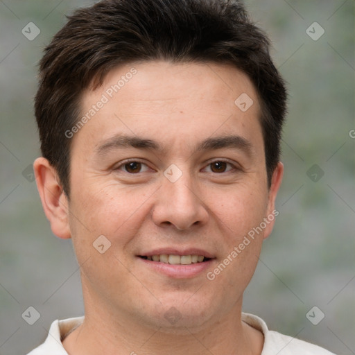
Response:
M245 130L262 141L257 92L231 64L125 64L107 73L101 87L83 94L81 111L89 122L77 136L96 146L121 132L168 144Z

